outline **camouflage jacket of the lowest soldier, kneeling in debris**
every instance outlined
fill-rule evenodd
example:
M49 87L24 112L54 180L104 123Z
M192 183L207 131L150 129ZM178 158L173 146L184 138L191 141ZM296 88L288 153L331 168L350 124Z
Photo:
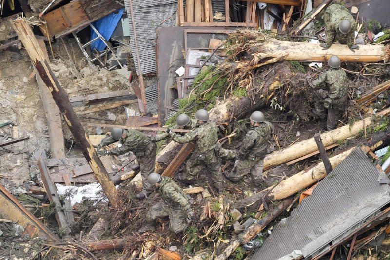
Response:
M187 195L184 191L169 177L161 177L159 191L161 192L162 200L173 209L187 210L190 208Z

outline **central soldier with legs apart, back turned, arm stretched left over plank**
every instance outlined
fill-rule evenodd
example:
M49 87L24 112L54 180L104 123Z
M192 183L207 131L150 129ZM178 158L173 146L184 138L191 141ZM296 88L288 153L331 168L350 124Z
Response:
M222 170L216 155L218 146L218 128L215 123L207 123L209 114L200 109L195 113L199 126L191 129L184 136L177 135L168 129L172 139L178 143L195 142L195 150L187 160L186 171L181 175L181 180L193 181L196 175L206 167L209 177L219 193L223 191Z

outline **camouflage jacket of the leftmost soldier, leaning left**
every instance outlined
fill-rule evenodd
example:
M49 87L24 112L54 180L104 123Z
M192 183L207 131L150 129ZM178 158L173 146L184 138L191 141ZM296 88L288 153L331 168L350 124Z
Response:
M147 156L151 150L153 150L154 144L150 138L137 130L126 129L127 134L124 140L122 140L122 146L110 150L113 155L121 155L127 152L133 152L135 156ZM101 146L106 146L116 142L111 136L105 137L101 140Z

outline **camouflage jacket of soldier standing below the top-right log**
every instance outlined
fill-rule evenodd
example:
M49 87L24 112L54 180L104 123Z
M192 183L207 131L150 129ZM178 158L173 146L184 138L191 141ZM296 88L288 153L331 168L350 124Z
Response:
M344 70L330 69L319 76L318 79L313 80L311 86L314 89L326 89L328 97L331 100L337 100L347 95L350 83L351 81Z

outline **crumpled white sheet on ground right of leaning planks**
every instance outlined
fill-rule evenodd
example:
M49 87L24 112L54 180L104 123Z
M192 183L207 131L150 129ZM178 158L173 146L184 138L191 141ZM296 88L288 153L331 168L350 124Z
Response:
M96 194L97 192L100 192L102 190L100 184L98 183L88 184L81 187L64 186L56 183L56 187L57 193L59 195L70 194L69 198L72 203L72 206L76 203L80 203L84 197L89 199L101 198Z

